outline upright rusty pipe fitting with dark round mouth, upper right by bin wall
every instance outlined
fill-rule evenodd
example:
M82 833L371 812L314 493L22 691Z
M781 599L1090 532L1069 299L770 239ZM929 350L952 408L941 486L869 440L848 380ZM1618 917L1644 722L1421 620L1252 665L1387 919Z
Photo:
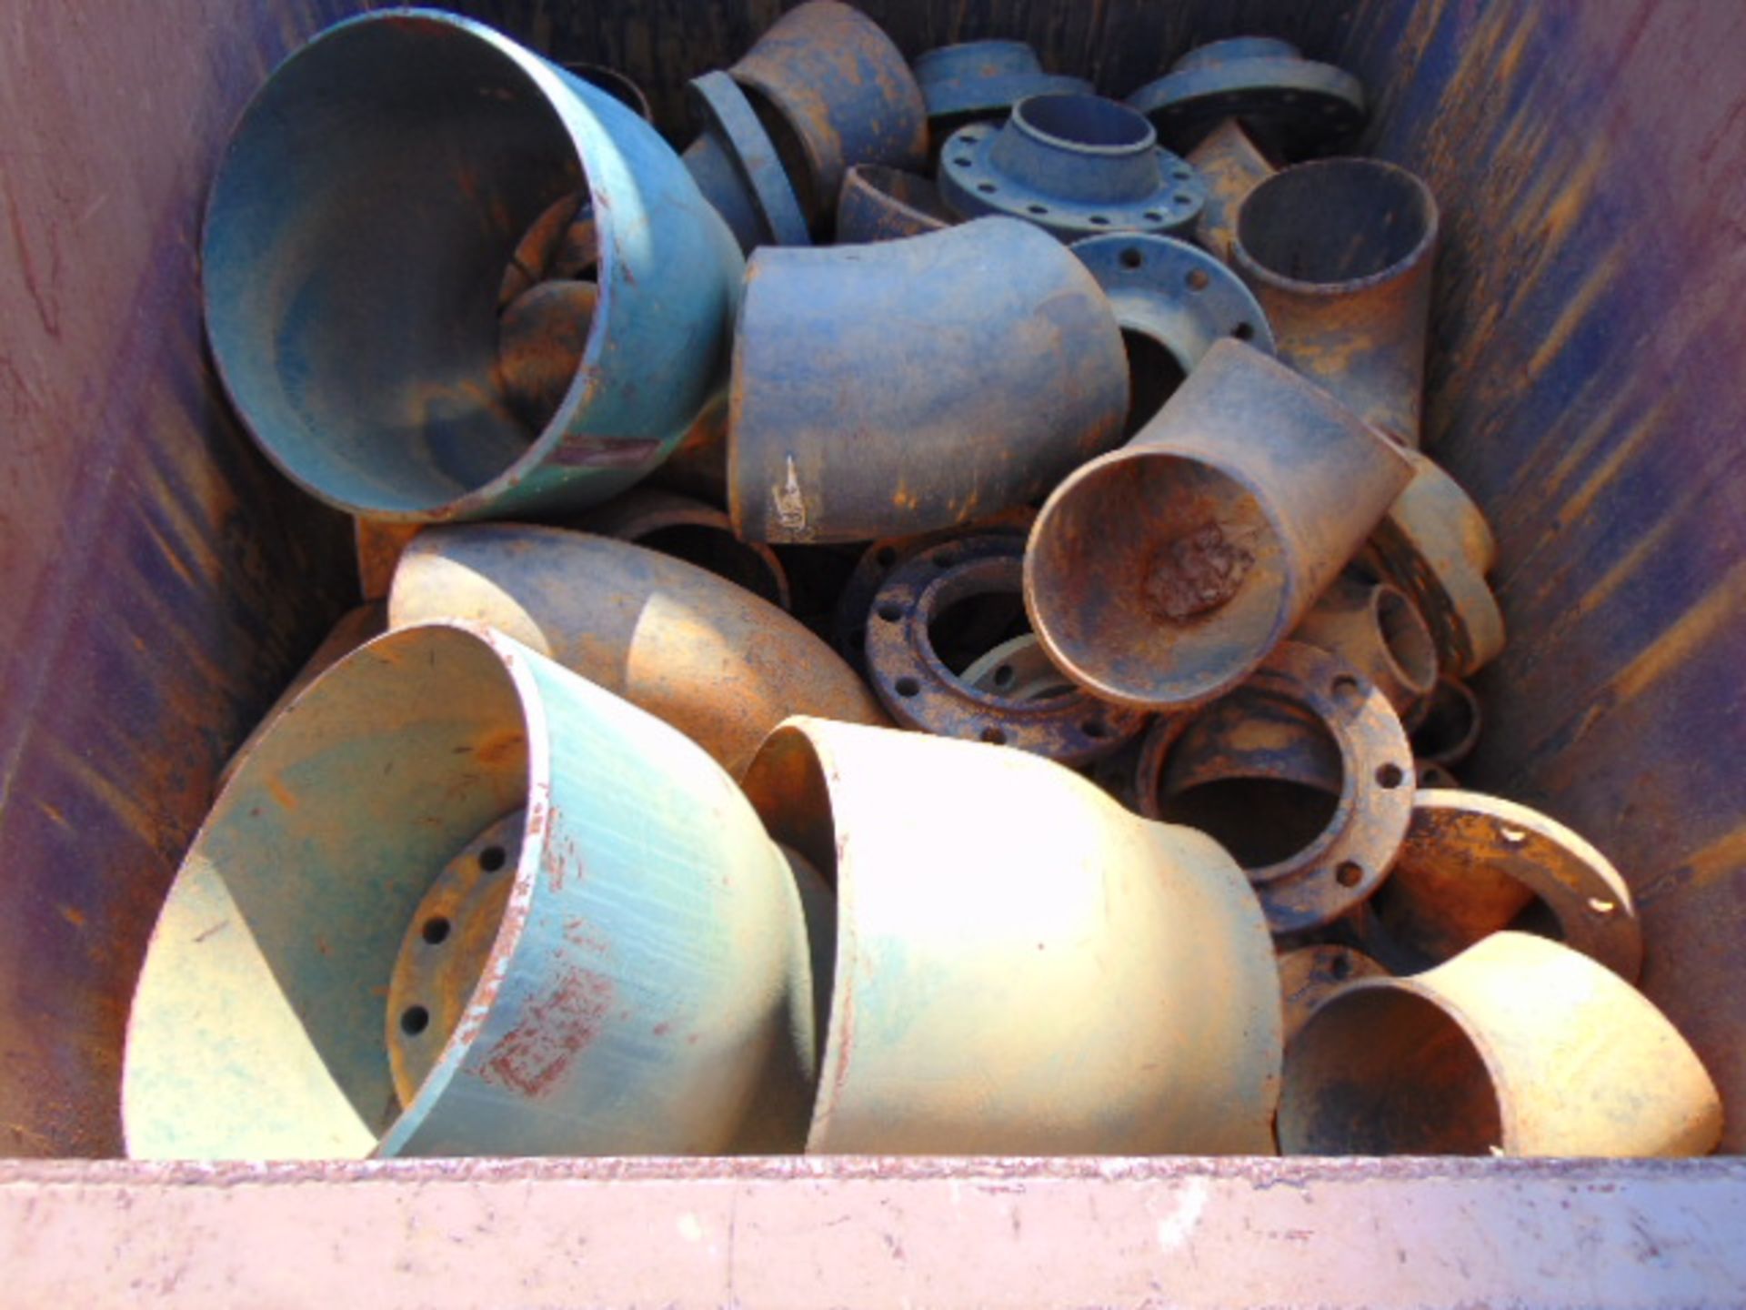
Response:
M1430 187L1376 159L1323 159L1248 192L1231 259L1280 358L1416 447L1435 253Z

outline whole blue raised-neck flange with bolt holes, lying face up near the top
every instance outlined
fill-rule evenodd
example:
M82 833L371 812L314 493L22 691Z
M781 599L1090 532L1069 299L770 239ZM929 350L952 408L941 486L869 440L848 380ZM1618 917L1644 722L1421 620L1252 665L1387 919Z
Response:
M946 141L939 194L964 218L1006 213L1063 241L1102 232L1186 232L1206 204L1187 161L1114 100L1030 96L1000 128L971 124Z

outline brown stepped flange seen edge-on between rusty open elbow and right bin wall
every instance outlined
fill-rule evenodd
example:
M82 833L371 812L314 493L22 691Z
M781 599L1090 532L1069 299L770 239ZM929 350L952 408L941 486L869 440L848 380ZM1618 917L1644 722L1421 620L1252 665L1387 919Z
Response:
M1413 482L1376 526L1362 562L1413 597L1437 638L1442 667L1465 678L1503 650L1503 611L1486 582L1498 543L1453 477L1418 451L1407 458Z

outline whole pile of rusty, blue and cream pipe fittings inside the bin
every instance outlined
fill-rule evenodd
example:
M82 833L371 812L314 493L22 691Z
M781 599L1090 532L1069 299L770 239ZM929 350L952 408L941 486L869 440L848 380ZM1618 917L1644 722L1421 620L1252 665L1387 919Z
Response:
M213 360L370 599L180 868L129 1151L1713 1149L1626 880L1449 772L1495 543L1358 82L808 0L690 89L393 10L241 119Z

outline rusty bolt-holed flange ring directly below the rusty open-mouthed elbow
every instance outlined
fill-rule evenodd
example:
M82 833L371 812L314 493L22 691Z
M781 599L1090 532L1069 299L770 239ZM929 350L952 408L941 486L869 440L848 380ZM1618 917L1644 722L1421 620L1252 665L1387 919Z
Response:
M1243 692L1308 709L1339 746L1334 817L1290 858L1245 870L1273 933L1303 933L1353 910L1388 873L1413 817L1413 751L1388 697L1315 646L1282 643ZM1159 783L1172 748L1194 720L1173 714L1147 734L1138 769L1140 812L1147 817L1163 817Z

